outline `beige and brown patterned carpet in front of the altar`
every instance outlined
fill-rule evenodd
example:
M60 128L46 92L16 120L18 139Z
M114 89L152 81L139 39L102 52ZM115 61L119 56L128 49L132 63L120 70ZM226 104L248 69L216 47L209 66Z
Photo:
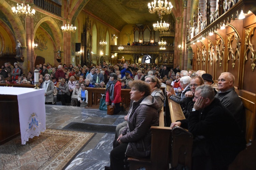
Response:
M0 146L0 169L63 169L95 133L46 129L21 145L20 136Z

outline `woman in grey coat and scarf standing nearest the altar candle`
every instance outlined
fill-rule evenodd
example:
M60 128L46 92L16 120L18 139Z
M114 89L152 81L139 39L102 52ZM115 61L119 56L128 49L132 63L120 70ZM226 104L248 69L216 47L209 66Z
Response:
M45 104L53 104L54 83L51 80L50 74L45 74L42 88L44 89Z

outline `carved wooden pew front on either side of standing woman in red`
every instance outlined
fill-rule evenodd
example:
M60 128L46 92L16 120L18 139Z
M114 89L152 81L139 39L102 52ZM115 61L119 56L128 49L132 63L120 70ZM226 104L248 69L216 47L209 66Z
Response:
M105 94L106 88L93 88L86 87L88 90L88 108L99 109L100 107L100 99L102 95ZM121 98L122 101L126 104L126 110L128 111L130 108L130 91L131 89L121 89Z

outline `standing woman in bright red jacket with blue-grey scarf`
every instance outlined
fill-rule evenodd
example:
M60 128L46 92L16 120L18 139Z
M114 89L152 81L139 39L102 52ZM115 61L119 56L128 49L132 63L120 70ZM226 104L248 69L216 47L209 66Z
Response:
M121 99L121 82L117 80L116 73L111 73L109 82L106 85L106 105L112 105L114 108L114 115L118 114L120 111L125 111L125 104L120 103L122 102Z

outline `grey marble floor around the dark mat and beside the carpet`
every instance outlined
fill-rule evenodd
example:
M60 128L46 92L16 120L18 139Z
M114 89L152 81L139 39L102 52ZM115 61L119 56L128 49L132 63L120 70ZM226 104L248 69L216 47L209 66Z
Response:
M70 122L117 125L124 121L127 112L107 115L106 111L74 106L45 105L46 128L62 129ZM110 165L114 134L97 133L84 149L73 159L66 170L102 170Z

